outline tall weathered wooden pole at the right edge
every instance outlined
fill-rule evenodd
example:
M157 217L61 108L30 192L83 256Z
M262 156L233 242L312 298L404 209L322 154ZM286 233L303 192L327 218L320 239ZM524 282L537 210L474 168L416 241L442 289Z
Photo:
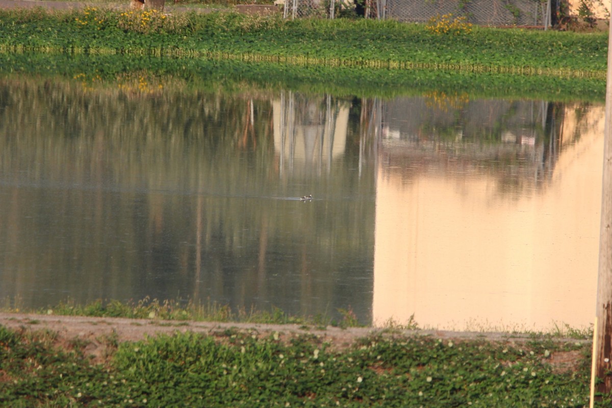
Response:
M594 344L597 391L612 391L612 35L608 34L605 126L603 130L602 219L599 235L597 274L597 338Z

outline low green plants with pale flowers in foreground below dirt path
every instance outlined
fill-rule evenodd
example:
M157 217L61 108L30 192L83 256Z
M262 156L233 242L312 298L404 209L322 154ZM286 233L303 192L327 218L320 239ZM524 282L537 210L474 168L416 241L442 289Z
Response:
M32 322L35 324L35 322ZM340 349L316 335L227 330L119 344L0 327L0 404L25 406L582 407L588 343L363 338ZM561 369L557 356L578 365ZM578 357L583 355L583 357ZM597 404L608 406L609 400Z

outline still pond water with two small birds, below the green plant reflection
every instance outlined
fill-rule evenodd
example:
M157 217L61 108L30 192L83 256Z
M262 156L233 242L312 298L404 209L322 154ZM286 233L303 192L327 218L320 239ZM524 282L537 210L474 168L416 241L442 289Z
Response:
M0 80L0 297L585 326L602 148L590 103Z

